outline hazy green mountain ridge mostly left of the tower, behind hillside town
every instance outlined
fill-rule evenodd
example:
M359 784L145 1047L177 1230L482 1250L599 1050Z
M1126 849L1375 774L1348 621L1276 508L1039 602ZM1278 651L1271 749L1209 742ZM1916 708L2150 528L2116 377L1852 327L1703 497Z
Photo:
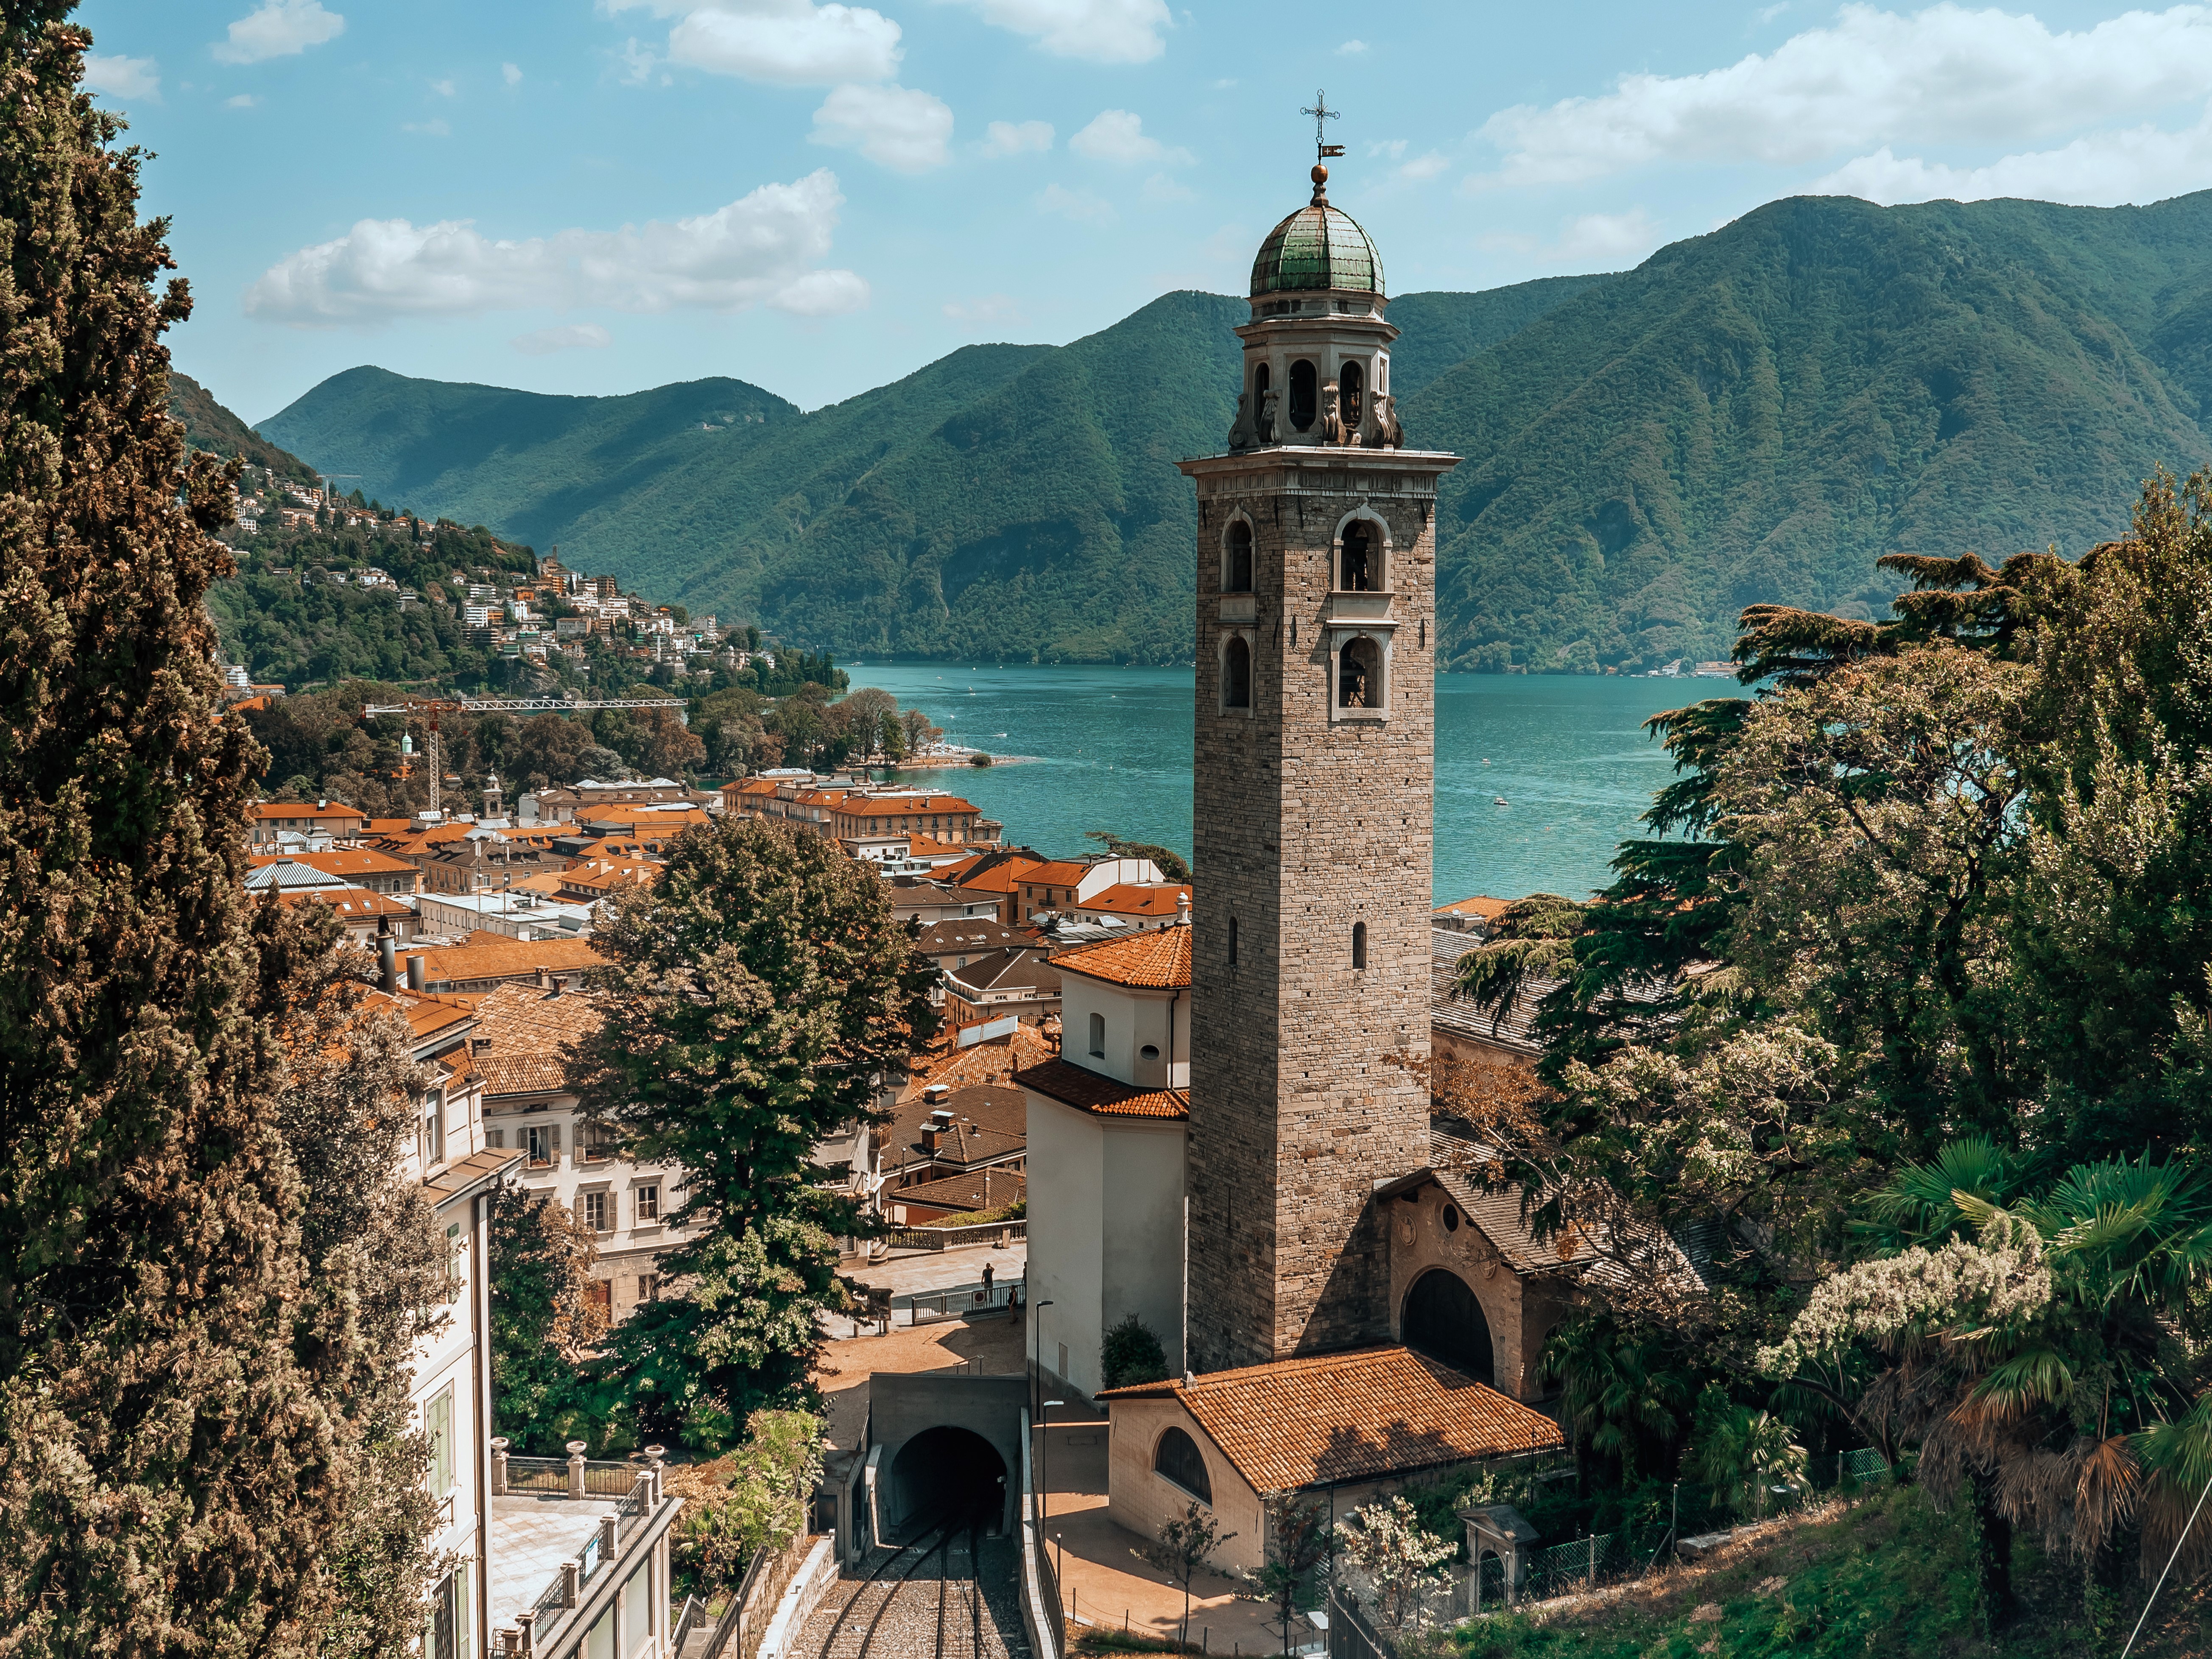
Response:
M1396 301L1394 383L1595 281ZM847 655L1172 661L1197 524L1175 460L1228 431L1243 314L1166 294L1071 345L964 347L810 414L741 380L549 398L361 367L261 429L385 504Z

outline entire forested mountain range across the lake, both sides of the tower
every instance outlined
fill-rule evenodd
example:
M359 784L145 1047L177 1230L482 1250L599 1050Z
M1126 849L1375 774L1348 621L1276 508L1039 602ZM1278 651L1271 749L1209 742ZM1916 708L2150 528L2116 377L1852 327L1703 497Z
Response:
M1387 250L1385 250L1387 254ZM801 414L741 380L544 398L352 369L263 434L845 655L1175 661L1243 301L1166 294ZM2212 456L2212 192L2150 208L1790 199L1619 276L1407 294L1444 661L1714 657L1765 599L1882 613L1887 551L2079 553Z

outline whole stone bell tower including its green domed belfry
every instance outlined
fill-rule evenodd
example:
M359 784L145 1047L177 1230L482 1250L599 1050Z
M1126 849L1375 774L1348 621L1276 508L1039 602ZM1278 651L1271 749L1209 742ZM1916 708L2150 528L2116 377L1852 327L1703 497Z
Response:
M1429 1157L1436 484L1383 263L1314 199L1252 265L1199 489L1192 1369L1389 1336L1369 1192Z

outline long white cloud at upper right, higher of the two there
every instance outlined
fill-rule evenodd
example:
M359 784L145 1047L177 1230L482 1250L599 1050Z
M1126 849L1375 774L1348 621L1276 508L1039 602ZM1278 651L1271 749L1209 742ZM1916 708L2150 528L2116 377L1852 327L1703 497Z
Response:
M1701 75L1624 75L1601 97L1515 106L1480 184L1573 184L1646 161L1805 164L1898 142L2020 142L2212 84L2212 11L2128 11L2053 33L2033 15L1847 4L1836 22Z

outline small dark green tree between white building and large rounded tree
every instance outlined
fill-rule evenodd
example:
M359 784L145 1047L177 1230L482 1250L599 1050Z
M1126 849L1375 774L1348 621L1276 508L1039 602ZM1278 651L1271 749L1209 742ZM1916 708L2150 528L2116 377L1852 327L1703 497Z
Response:
M551 1197L504 1186L491 1197L491 1405L515 1449L555 1455L568 1440L606 1449L586 1371L606 1336L591 1294L597 1234Z

